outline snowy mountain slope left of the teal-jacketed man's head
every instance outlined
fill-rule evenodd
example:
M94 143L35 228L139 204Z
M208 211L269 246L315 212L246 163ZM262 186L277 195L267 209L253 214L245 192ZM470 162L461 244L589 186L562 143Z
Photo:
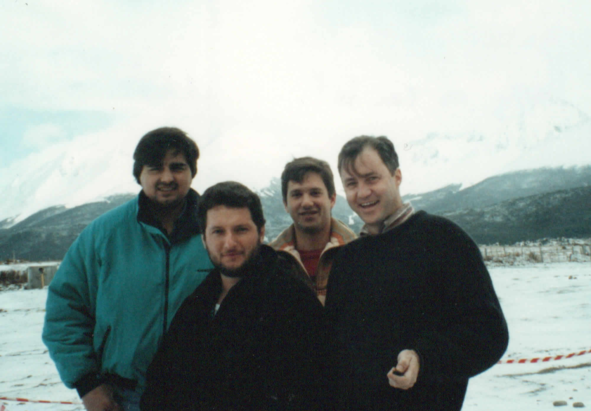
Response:
M14 161L0 170L0 228L54 205L75 207L139 192L131 175L132 149L89 135Z

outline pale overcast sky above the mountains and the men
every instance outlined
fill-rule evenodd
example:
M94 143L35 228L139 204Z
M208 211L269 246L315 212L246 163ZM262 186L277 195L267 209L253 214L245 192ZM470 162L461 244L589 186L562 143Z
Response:
M0 182L116 146L133 186L135 143L163 125L200 146L200 190L261 187L294 156L334 167L361 134L404 169L409 142L501 128L527 102L591 114L589 21L589 0L3 1Z

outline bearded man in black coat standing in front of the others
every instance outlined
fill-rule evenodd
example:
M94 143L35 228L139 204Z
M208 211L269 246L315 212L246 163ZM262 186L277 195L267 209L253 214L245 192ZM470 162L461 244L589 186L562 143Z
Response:
M322 304L293 261L261 244L255 193L237 182L199 201L215 269L181 305L148 368L142 410L322 410Z

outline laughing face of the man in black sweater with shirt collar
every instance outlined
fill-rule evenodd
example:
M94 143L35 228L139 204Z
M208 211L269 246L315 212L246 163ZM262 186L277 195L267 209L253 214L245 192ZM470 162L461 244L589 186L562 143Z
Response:
M349 206L367 225L370 234L378 234L384 221L402 207L400 168L392 175L371 147L363 149L352 167L343 168L340 178Z

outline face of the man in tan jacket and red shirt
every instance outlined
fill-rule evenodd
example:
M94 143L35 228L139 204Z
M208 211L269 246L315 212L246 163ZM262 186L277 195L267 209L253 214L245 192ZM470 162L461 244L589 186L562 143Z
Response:
M313 234L330 227L330 210L335 200L336 194L329 197L320 174L308 172L301 182L290 180L287 183L283 205L297 230Z

